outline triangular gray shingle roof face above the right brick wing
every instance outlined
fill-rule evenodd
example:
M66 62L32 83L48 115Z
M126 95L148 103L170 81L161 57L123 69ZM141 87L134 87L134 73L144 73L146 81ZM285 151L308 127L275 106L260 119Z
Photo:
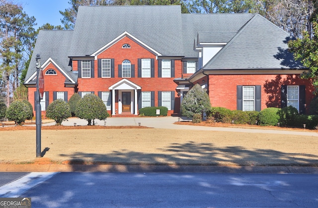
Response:
M290 35L256 14L204 69L300 68L288 52Z

